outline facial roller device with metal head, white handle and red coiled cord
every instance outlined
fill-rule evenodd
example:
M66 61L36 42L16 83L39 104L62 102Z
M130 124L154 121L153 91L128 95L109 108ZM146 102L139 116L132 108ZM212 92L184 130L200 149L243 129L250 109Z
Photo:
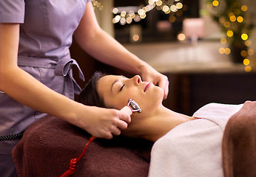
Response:
M129 99L128 100L128 104L124 106L124 108L121 108L120 110L121 112L127 113L130 116L132 116L133 112L141 112L141 108L138 105L138 103L136 103L134 100ZM96 139L95 136L92 136L89 140L89 142L87 142L87 145L85 145L83 152L81 153L81 155L76 159L73 158L70 160L70 169L67 170L66 172L64 172L61 177L67 177L67 176L71 176L75 173L75 164L81 159L81 157L84 155L85 150L87 149L88 145L90 144L90 142L92 142L94 139Z

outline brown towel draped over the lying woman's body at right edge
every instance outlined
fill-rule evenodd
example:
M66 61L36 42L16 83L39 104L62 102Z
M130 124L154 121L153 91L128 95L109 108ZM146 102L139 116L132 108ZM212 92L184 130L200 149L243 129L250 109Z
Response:
M225 177L256 176L256 102L246 102L226 125L223 170Z

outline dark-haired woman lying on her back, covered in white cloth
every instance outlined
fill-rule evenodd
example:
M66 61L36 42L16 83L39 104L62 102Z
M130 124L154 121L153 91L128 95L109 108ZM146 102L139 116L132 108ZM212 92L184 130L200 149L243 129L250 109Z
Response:
M155 142L149 176L223 176L221 143L229 117L243 105L210 103L192 117L162 105L164 93L136 75L127 78L96 72L80 94L80 102L121 109L129 99L141 107L121 133Z

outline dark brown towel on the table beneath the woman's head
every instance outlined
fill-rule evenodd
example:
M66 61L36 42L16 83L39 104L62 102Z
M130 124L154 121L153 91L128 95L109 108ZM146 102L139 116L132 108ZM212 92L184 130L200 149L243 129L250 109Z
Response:
M78 158L90 135L56 117L30 125L13 149L18 176L61 176L70 159ZM95 139L87 147L73 176L147 176L149 162L129 142Z

